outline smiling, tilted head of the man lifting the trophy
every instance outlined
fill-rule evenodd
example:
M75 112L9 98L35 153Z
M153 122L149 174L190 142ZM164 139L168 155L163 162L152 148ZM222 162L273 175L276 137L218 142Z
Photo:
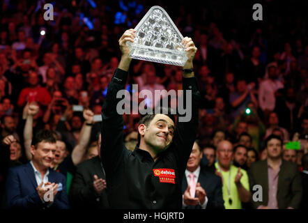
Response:
M138 127L141 135L140 146L147 146L155 154L168 148L174 137L174 121L164 114L156 114L148 126Z

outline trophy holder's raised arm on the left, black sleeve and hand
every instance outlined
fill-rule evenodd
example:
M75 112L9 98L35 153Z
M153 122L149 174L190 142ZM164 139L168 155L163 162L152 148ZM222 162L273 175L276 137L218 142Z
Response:
M109 174L112 174L123 164L123 155L127 152L123 144L123 116L118 114L116 107L118 102L122 100L117 98L117 93L125 88L132 60L128 57L130 49L126 43L128 41L134 42L134 32L133 29L125 31L118 40L122 53L121 61L108 85L107 97L104 105L102 105L102 146L100 154L107 180Z

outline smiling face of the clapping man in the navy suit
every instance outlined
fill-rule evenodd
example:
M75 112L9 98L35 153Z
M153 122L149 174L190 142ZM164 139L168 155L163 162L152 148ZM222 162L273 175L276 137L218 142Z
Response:
M40 169L47 169L51 166L56 153L56 144L40 141L37 146L31 146L32 162Z

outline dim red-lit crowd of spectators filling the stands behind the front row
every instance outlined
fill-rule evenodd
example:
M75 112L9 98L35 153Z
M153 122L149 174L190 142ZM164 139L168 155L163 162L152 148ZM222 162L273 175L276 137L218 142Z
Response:
M47 3L43 0L0 3L3 208L7 167L31 160L31 140L39 130L54 132L57 146L52 167L66 176L72 206L94 197L92 206L107 207L106 196L101 196L106 187L103 171L91 172L88 180L92 181L90 186L84 182L85 190L74 186L78 180L74 177L85 171L86 165L78 164L100 156L100 121L93 117L100 116L107 86L118 67L118 38L153 5L151 1L55 2L53 21L43 18ZM231 141L239 157L233 164L249 170L253 162L267 158L265 139L274 134L284 143L284 160L296 164L298 171L307 171L302 163L306 159L307 164L308 153L307 2L288 6L263 1L263 21L252 20L249 1L240 2L155 3L198 47L194 74L201 93L199 146L212 166L220 142ZM126 89L132 98L138 97L132 84L138 84L139 91L181 90L181 74L177 66L133 60ZM141 116L123 117L125 145L133 150ZM289 141L299 141L300 148L286 149Z

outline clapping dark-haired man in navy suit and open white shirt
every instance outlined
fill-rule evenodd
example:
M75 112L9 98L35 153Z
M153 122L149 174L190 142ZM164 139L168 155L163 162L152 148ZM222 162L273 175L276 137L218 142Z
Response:
M49 168L55 151L56 139L52 132L39 131L32 141L31 162L8 171L8 208L69 208L66 178Z

